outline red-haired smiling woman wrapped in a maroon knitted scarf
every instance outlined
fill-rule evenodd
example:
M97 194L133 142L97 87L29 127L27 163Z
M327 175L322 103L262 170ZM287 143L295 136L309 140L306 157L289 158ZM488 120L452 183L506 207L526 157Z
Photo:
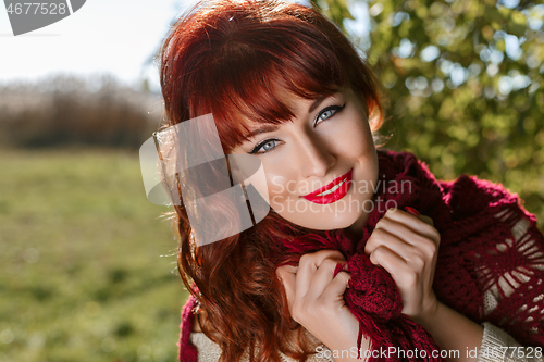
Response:
M199 3L165 40L161 86L164 127L212 114L225 154L259 158L272 208L197 247L174 207L191 292L181 361L355 361L385 358L372 354L383 347L412 354L392 361L495 361L502 347L542 361L534 216L499 186L437 182L413 155L376 150L381 88L323 16L275 1Z

